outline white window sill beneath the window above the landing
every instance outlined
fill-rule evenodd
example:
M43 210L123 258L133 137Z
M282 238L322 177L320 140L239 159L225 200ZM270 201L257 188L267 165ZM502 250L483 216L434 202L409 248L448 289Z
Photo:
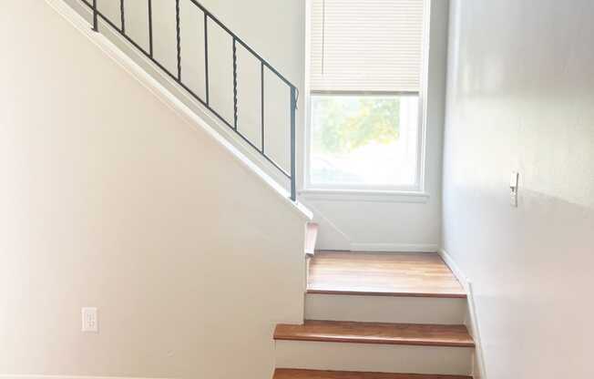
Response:
M332 201L426 203L430 197L426 192L404 190L302 189L298 193L305 200Z

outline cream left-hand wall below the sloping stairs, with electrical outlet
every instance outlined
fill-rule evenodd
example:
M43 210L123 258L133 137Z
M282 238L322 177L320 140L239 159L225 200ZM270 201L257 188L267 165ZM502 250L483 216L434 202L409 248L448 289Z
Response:
M271 377L302 216L46 2L0 44L0 374Z

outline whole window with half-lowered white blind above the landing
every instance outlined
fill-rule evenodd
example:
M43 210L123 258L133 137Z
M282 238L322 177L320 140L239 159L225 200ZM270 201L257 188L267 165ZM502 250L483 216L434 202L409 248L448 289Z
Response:
M420 189L424 0L312 0L310 189Z

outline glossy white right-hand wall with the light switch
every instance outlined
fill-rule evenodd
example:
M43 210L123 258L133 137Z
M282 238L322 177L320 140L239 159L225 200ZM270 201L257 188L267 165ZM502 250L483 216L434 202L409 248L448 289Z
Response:
M444 247L474 284L488 379L594 376L593 17L589 0L451 5Z

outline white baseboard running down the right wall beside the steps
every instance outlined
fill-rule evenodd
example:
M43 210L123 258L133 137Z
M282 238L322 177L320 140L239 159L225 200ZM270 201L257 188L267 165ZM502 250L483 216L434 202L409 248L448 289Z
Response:
M460 267L456 264L456 261L454 261L452 256L449 255L447 251L445 251L444 249L439 249L437 253L446 262L447 266L456 276L458 282L462 284L466 291L468 314L466 315L465 324L468 328L468 332L472 335L472 338L475 340L476 345L475 357L473 360L473 377L475 379L486 379L485 358L483 356L480 331L478 328L478 320L476 318L476 307L472 282L466 277L462 270L460 270Z

